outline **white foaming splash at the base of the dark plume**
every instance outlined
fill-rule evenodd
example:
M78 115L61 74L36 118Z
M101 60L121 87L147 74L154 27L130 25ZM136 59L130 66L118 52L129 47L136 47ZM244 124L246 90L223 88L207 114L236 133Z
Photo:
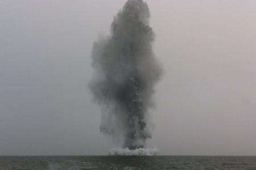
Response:
M122 155L122 156L142 156L142 155L160 155L160 151L157 147L152 146L150 148L137 148L135 150L129 150L129 148L113 149L109 151L109 155Z

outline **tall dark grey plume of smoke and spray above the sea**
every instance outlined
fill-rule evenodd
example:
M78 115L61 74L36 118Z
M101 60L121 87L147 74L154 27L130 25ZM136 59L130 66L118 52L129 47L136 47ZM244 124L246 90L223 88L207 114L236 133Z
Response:
M100 130L123 140L123 148L143 148L151 138L148 109L162 69L152 52L154 32L146 2L128 0L114 17L111 34L92 49L95 74L89 84L102 108Z

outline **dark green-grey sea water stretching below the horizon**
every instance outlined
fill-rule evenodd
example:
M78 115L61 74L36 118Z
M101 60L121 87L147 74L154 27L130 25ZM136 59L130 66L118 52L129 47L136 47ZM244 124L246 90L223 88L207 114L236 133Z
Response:
M0 156L0 169L256 169L256 156Z

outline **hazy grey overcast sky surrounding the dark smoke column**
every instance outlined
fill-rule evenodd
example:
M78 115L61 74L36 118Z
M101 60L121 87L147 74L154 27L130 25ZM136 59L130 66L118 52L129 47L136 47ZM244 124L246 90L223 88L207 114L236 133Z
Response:
M164 68L148 145L256 155L256 2L148 0ZM0 0L0 155L107 154L90 50L125 0Z

